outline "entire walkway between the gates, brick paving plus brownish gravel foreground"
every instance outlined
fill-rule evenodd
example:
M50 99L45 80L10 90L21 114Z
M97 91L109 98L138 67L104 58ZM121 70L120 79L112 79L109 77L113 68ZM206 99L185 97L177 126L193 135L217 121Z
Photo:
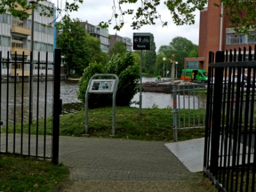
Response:
M60 163L74 181L64 191L193 191L200 184L158 141L61 136Z

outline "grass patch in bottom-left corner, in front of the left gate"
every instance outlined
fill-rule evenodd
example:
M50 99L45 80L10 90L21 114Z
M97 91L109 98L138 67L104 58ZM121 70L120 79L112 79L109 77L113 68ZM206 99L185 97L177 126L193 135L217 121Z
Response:
M68 174L61 164L0 154L0 191L54 191Z

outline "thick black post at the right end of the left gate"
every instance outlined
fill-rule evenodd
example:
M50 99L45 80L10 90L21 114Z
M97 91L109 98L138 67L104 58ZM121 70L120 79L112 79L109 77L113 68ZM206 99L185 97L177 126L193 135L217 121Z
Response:
M58 164L59 161L59 136L60 136L60 65L61 50L54 50L54 91L53 91L53 130L52 130L52 163Z

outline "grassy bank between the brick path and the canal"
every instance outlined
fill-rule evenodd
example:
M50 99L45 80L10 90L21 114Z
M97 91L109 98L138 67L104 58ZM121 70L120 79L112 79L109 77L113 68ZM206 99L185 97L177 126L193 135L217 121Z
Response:
M183 111L183 110L182 110ZM182 112L183 113L183 112ZM189 111L184 110L185 116L189 116ZM200 115L205 113L199 111ZM195 113L198 115L198 112ZM183 116L183 114L180 114ZM109 137L112 133L112 108L89 109L89 129L90 136ZM200 118L203 125L203 119ZM82 136L84 134L84 111L60 116L60 135L62 136ZM189 122L186 120L186 122ZM44 121L38 123L38 133L44 133ZM142 114L138 113L138 108L116 107L116 138L129 138L135 140L173 140L173 113L172 109L148 108L142 109ZM16 132L20 132L20 124L15 127ZM4 127L2 129L4 130ZM24 124L23 131L28 133L28 124ZM8 132L13 132L13 127L8 127ZM52 119L47 119L46 134L52 132ZM31 134L36 134L36 122L31 125ZM178 131L179 140L190 140L204 137L204 129L189 129Z

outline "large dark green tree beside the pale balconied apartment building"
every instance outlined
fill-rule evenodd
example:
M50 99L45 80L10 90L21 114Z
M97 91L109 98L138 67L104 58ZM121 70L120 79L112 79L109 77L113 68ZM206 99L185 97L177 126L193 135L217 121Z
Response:
M96 61L105 65L108 62L108 55L100 49L100 40L86 35L78 19L64 17L58 26L61 33L58 35L57 45L64 56L68 76L71 75L71 70L76 70L76 75L81 76L89 63Z

